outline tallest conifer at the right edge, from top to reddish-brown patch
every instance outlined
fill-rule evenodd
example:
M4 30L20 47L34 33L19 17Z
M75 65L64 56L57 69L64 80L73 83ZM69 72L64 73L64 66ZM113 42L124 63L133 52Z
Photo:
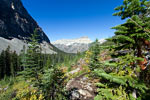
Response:
M142 70L147 64L143 51L150 48L150 18L147 15L149 4L147 0L124 0L123 5L115 8L118 12L114 13L114 16L121 16L122 19L129 18L126 23L113 27L117 30L116 36L112 38L117 44L115 50L129 49L134 56L143 58L143 61L137 60Z

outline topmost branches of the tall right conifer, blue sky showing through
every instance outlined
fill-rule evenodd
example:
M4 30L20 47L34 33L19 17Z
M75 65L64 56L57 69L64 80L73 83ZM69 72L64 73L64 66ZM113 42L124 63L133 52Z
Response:
M123 5L115 8L114 16L121 16L121 19L131 18L133 15L142 17L149 11L150 1L147 0L123 0Z

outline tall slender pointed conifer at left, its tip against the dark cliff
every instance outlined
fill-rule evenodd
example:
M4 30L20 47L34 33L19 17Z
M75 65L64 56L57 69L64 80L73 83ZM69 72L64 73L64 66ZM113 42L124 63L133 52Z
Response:
M28 43L29 46L27 49L27 53L24 53L25 51L23 51L22 66L24 67L24 70L21 73L23 74L25 79L32 78L32 83L35 85L37 83L40 83L40 46L38 43L37 30L34 31L34 34L32 34L30 40L31 41Z

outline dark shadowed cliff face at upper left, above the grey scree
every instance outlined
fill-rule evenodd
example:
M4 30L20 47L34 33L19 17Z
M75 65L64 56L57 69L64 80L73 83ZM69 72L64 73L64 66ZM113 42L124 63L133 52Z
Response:
M21 0L0 0L0 37L28 40L35 28L38 29L40 42L50 43L48 37L23 7Z

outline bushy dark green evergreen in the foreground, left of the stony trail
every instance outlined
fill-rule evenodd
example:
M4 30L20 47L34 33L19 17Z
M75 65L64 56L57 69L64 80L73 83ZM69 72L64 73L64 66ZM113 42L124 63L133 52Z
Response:
M46 100L68 100L64 91L64 73L56 66L48 68L42 76L42 90Z

